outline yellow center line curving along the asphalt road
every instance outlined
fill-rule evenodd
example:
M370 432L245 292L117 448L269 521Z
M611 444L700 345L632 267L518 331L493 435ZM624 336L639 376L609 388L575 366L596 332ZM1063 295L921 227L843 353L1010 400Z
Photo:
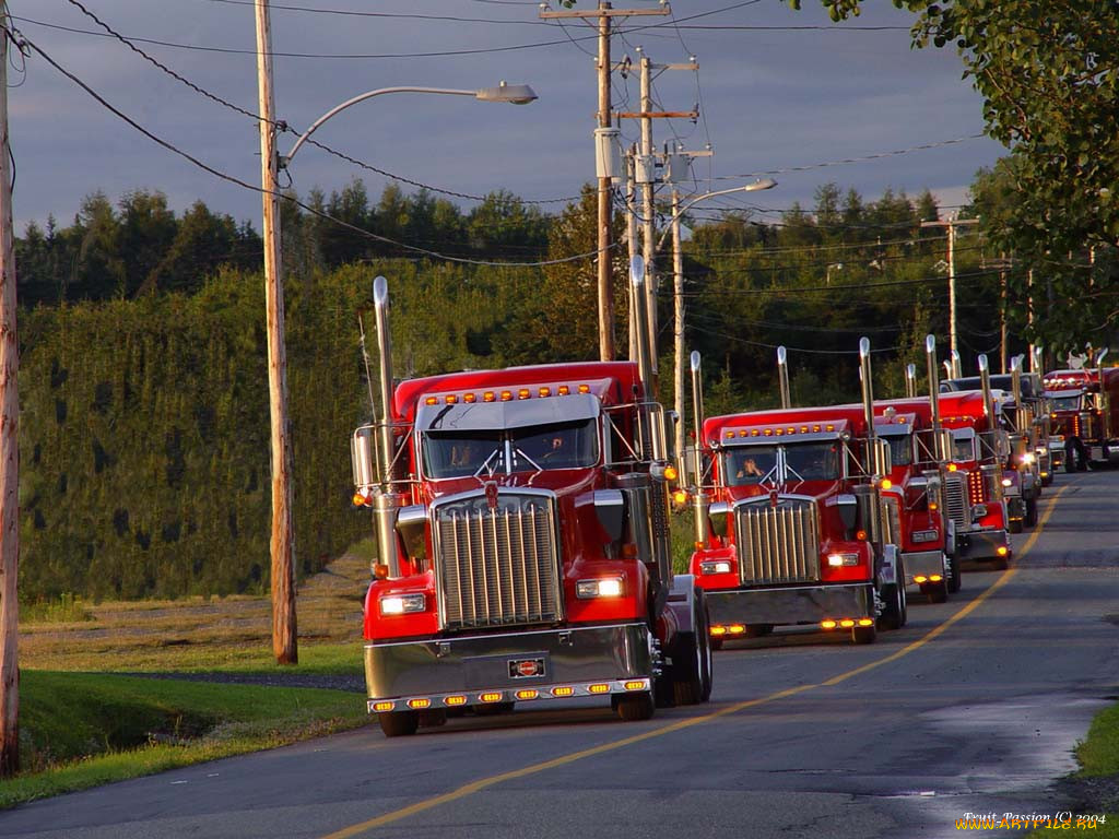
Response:
M1037 541L1037 537L1041 536L1042 529L1049 521L1050 516L1053 515L1053 510L1056 508L1056 502L1060 500L1064 491L1069 489L1068 487L1062 487L1061 490L1053 497L1053 500L1049 502L1049 508L1045 513L1041 517L1034 531L1026 539L1025 545L1022 549L1017 552L1015 559L1025 556L1029 549ZM540 763L534 763L530 766L524 766L519 770L513 770L511 772L504 772L500 775L490 775L489 777L482 777L478 781L471 781L470 783L460 786L451 792L443 793L442 795L436 795L435 798L424 799L423 801L417 801L408 807L401 808L399 810L393 810L383 816L378 816L368 821L363 821L358 824L351 824L348 828L342 828L333 833L327 833L321 839L349 839L349 837L358 836L368 830L375 828L384 827L385 824L391 824L393 822L399 821L401 819L406 819L410 816L415 816L422 813L425 810L431 810L435 807L441 807L442 804L449 804L452 801L458 801L464 799L469 795L473 795L476 792L481 792L490 786L496 786L497 784L505 783L506 781L514 781L518 777L527 777L528 775L535 775L540 772L546 772L558 766L564 766L568 763L575 763L576 761L582 761L586 757L593 757L594 755L604 754L605 752L613 752L619 748L624 748L626 746L631 746L636 743L642 743L645 741L653 739L655 737L662 737L667 734L675 734L676 732L684 730L685 728L690 728L692 726L700 725L703 723L708 723L713 719L718 719L720 717L725 717L731 714L737 714L741 710L746 710L747 708L756 708L760 705L768 705L769 703L774 703L779 699L787 699L790 696L796 696L797 694L802 694L806 690L812 690L819 687L830 687L833 685L838 685L841 681L846 681L855 676L873 670L876 667L888 663L891 661L896 661L903 656L908 656L914 650L924 647L927 643L932 641L938 635L942 634L949 626L959 621L962 621L969 614L971 614L979 604L986 601L991 594L1006 585L1017 573L1017 568L1009 568L1003 573L1003 575L996 579L988 588L986 588L981 594L979 594L974 601L968 603L963 609L961 609L956 614L951 615L942 623L939 623L933 629L929 630L924 635L906 644L896 652L891 653L877 661L872 661L869 664L864 664L854 670L848 670L845 673L833 677L827 681L822 681L818 685L800 685L794 688L787 688L784 690L778 690L774 694L769 694L768 696L760 697L758 699L749 699L741 703L735 703L733 705L727 705L725 708L720 708L718 710L712 711L709 714L704 714L698 717L688 717L687 719L680 719L675 723L661 726L659 728L653 728L652 730L643 732L642 734L634 734L630 737L623 737L621 739L611 741L610 743L603 743L599 746L592 746L591 748L584 748L580 752L572 752L571 754L562 755L561 757L554 757L551 761L543 761Z

